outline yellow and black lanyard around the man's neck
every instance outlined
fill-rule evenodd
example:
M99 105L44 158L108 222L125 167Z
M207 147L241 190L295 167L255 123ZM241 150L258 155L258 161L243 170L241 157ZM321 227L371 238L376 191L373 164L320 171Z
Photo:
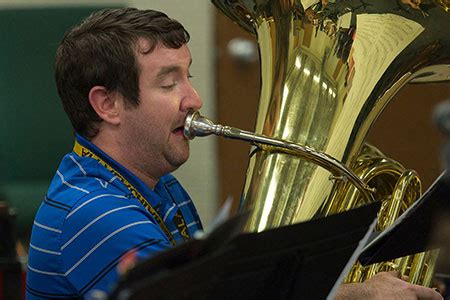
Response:
M145 209L147 209L152 214L153 218L155 218L155 220L158 222L159 227L164 231L164 233L166 234L167 238L172 243L172 245L176 244L175 239L172 236L172 233L169 231L163 219L156 211L156 209L154 209L153 206L151 206L151 204L147 201L147 199L145 199L145 197L142 196L142 194L130 182L128 182L128 180L126 180L125 177L123 177L119 172L117 172L103 159L95 155L91 150L78 143L78 141L75 141L73 152L75 152L78 156L86 156L95 159L96 161L101 163L105 168L107 168L111 173L113 173L123 184L125 184L128 190L133 194L134 197L136 197L139 200L139 202L141 202L141 204L145 207ZM185 240L189 239L190 237L187 231L187 225L181 215L181 212L178 211L175 214L175 217L178 220L175 225L177 226L180 234Z

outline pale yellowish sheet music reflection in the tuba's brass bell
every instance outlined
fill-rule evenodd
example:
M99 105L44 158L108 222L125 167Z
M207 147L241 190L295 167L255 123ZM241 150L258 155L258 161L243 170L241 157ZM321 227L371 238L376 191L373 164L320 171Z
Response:
M348 22L349 17L349 14L343 15L342 22ZM394 14L356 15L356 31L347 62L351 76L339 119L355 120L355 113L362 111L389 66L423 31L424 27L419 23ZM354 129L353 122L341 120L338 122L346 126L334 129L325 150L333 157L342 157L343 148L334 145L349 138Z

